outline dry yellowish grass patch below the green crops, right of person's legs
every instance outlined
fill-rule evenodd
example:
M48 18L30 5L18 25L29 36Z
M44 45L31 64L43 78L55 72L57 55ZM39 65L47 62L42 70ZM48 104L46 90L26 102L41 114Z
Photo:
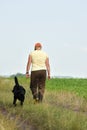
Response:
M73 111L87 112L87 101L68 91L45 92L44 101L53 104L55 107L63 107Z

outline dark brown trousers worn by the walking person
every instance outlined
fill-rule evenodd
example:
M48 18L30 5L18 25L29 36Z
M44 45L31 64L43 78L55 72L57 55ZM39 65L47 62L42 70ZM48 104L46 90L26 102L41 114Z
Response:
M46 70L38 70L31 72L30 89L33 94L34 99L39 99L42 101L43 94L45 91L45 81L46 81Z

